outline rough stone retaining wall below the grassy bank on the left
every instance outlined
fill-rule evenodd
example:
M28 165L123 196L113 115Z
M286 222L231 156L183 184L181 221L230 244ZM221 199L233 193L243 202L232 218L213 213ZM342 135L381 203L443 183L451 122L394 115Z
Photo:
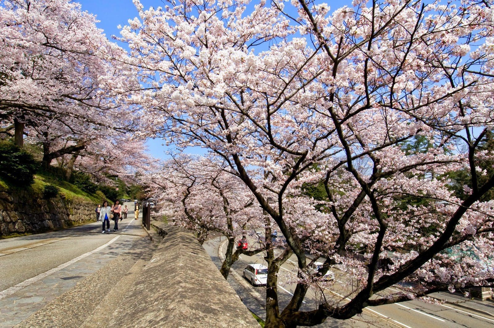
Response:
M0 238L86 223L96 219L94 207L91 202L61 195L45 200L27 190L0 190Z

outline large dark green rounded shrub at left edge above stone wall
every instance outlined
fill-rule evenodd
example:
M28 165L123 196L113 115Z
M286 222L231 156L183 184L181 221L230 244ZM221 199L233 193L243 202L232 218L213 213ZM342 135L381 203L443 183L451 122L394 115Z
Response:
M0 140L0 176L8 182L29 186L39 167L33 156L8 140Z

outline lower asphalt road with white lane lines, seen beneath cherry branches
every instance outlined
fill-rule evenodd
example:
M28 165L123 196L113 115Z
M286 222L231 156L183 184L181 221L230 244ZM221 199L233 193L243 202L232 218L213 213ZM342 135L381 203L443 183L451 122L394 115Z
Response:
M223 239L224 240L224 239ZM255 237L249 237L249 246L256 248ZM219 243L216 247L219 246ZM223 253L226 251L226 245L223 245ZM210 246L212 248L212 246ZM217 248L216 248L217 249ZM259 253L254 256L242 255L241 258L234 263L233 270L242 276L243 269L250 263L263 263L264 254ZM291 293L295 289L295 284L292 283L296 277L296 257L292 256L282 267L279 274L279 300L280 308L283 309L291 297ZM332 270L335 273L335 281L324 290L311 288L306 296L306 303L302 305L302 310L316 309L320 300L324 297L335 302L345 303L351 297L352 282L348 281L345 274L337 269ZM245 285L244 285L245 286ZM250 287L259 292L262 299L265 298L265 287ZM397 291L402 286L393 286L389 292ZM323 294L324 292L324 294ZM385 295L387 291L381 294ZM405 328L421 328L421 327L494 327L494 302L492 301L470 301L456 294L450 293L435 293L432 296L440 299L446 299L448 302L444 304L425 303L420 300L412 300L408 302L381 305L377 307L368 307L364 309L362 315L356 316L353 320L341 321L328 319L327 322L319 327L405 327Z

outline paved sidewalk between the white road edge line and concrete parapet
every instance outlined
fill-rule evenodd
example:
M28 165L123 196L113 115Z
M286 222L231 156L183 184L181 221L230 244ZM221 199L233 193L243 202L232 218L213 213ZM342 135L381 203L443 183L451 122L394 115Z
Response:
M98 229L101 223L98 227L92 224ZM0 292L0 327L80 326L105 294L153 247L141 220L129 215L120 224L124 229L112 233L114 237L105 247L61 269L52 269L52 274L49 270L38 275L31 284L28 279L13 290L2 291L3 295Z

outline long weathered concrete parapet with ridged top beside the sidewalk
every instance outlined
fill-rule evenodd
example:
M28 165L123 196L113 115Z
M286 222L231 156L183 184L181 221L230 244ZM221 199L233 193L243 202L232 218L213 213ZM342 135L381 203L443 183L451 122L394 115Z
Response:
M165 237L110 327L259 327L191 232L156 225Z

